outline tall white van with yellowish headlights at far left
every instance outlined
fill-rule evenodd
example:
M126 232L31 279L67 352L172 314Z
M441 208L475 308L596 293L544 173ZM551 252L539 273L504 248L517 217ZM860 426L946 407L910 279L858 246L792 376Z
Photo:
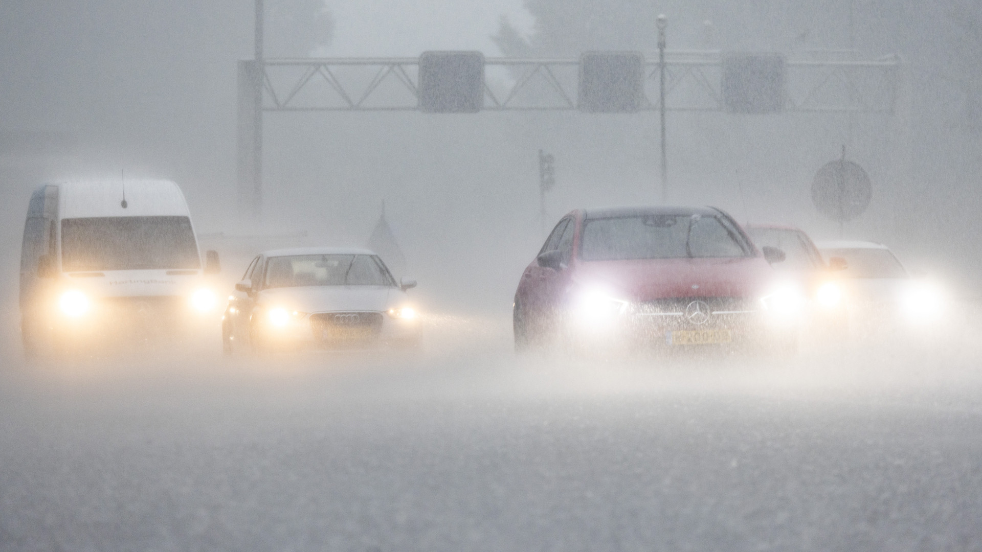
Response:
M165 180L49 184L30 197L21 249L28 356L105 338L173 335L218 318L184 194Z

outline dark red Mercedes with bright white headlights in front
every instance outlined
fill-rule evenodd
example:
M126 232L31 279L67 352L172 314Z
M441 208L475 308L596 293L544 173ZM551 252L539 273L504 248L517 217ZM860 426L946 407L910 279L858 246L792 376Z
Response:
M525 269L515 343L633 346L796 344L804 298L713 207L576 210Z

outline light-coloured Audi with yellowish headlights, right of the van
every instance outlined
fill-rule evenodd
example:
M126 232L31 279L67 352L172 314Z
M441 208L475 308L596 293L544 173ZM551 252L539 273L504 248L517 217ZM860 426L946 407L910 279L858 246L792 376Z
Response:
M418 314L374 252L292 248L257 255L236 284L222 321L226 353L415 348Z

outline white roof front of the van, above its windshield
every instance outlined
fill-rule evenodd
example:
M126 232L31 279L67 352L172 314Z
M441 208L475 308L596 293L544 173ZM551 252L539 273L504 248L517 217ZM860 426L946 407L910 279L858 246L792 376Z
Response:
M184 193L169 180L78 180L56 186L61 218L190 216Z

